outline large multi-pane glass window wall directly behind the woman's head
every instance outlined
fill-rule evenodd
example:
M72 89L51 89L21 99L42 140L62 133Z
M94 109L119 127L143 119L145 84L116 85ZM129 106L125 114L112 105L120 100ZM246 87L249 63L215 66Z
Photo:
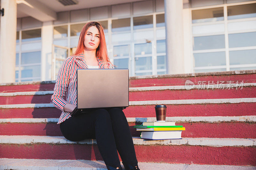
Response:
M162 7L163 2L160 2ZM145 3L147 5L141 8L141 4ZM149 0L111 5L110 8L105 6L67 12L61 22L54 22L53 44L55 47L68 48L68 51L70 48L75 49L84 24L92 18L100 19L108 55L116 69L129 69L129 76L166 74L164 9L161 7L159 10L159 6L154 4L155 1ZM99 9L103 11L96 12ZM153 18L156 18L154 22ZM60 51L54 53L56 57L57 54L62 54ZM54 64L52 79L55 78L62 59L56 59Z

